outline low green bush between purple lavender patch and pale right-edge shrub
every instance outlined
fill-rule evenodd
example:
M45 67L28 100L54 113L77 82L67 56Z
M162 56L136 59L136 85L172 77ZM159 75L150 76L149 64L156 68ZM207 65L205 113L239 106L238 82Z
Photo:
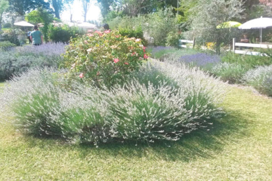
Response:
M229 83L239 83L243 75L247 72L247 68L244 65L238 63L218 63L210 72L221 78L223 81L228 81Z

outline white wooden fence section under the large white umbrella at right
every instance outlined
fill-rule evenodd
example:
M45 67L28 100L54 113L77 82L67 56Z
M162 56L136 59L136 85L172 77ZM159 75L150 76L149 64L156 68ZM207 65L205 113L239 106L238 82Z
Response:
M232 51L234 53L239 53L239 54L246 54L246 55L261 55L260 52L257 51L248 51L248 50L237 50L235 49L235 46L240 46L240 47L254 47L254 48L272 48L272 45L266 45L266 44L248 44L248 43L236 43L235 38L232 41Z

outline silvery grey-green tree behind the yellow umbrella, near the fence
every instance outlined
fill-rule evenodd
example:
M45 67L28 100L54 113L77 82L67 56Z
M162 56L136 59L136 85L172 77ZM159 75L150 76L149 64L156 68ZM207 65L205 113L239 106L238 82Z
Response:
M186 33L186 37L195 37L200 42L216 42L216 50L219 53L220 44L229 43L232 33L236 31L229 31L228 28L217 29L216 26L237 17L242 18L243 11L242 0L198 0L190 9L191 29Z

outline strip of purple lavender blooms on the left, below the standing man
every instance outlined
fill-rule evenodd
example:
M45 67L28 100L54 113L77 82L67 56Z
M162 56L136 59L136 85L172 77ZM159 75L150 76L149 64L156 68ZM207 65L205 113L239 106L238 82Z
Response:
M61 55L65 53L66 44L47 43L40 46L21 46L16 47L16 52L20 54L44 54L47 56Z

